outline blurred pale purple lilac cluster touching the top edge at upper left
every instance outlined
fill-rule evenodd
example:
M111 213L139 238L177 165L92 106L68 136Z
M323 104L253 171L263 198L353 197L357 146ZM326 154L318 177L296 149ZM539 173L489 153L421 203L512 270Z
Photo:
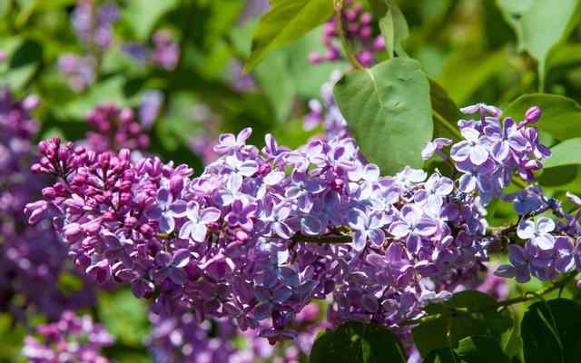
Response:
M79 39L89 48L103 50L113 39L113 24L119 9L113 3L95 6L93 0L80 0L74 8L72 24Z

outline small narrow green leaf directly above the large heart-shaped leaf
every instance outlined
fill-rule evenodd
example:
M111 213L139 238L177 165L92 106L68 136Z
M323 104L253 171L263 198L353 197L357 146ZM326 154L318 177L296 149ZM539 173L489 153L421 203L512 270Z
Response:
M394 54L408 56L403 49L402 42L409 36L408 22L399 6L393 0L374 0L374 3L385 3L385 10L379 19L379 28L385 39L385 46L389 56ZM378 8L378 5L375 5Z

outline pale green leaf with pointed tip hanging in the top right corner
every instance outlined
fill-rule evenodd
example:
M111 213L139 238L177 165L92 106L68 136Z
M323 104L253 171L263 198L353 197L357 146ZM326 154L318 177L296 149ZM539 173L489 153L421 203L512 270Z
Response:
M566 39L581 14L578 0L497 0L507 23L515 29L521 51L538 61L542 90L547 57L553 47Z

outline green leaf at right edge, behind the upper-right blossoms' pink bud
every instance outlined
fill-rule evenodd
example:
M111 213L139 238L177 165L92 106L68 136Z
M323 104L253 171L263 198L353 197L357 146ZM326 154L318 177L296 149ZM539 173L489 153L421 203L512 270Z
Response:
M523 94L508 104L504 115L522 120L531 106L541 108L543 114L537 128L546 131L558 140L581 137L581 105L576 101L556 94Z

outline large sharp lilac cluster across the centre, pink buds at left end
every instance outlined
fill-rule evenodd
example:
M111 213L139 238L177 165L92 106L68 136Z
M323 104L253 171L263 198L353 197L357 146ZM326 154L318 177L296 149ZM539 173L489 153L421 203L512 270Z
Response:
M229 317L271 341L296 338L292 319L330 294L333 322L397 326L486 260L480 200L448 178L379 177L350 138L289 150L267 135L259 150L250 133L222 135L222 156L193 179L126 150L41 142L33 170L61 181L26 212L53 215L78 266L155 295L155 312Z

